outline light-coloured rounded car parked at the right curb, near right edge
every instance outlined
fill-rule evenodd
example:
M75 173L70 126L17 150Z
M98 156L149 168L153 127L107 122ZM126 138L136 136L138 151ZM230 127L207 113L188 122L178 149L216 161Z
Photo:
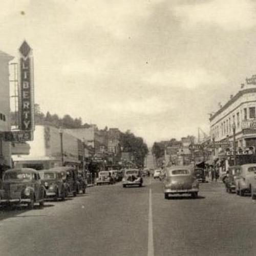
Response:
M256 163L241 165L241 174L239 179L235 181L237 195L244 196L251 193L252 184L254 184L254 172L256 171ZM253 185L254 187L254 185Z

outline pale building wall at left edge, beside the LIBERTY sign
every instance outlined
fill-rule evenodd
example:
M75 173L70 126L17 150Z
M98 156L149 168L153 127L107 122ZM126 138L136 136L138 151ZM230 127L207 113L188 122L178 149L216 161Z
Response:
M0 178L1 169L12 165L11 143L4 141L4 132L11 131L9 62L12 59L12 56L0 51Z

